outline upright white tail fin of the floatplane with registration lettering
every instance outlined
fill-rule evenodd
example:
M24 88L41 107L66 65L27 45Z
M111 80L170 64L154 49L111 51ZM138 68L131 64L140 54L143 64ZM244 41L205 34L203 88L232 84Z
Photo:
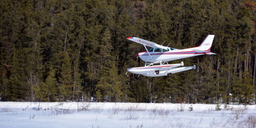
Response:
M204 39L202 44L200 44L198 49L206 51L206 52L210 52L214 36L215 35L208 35L208 36L206 36L206 38Z

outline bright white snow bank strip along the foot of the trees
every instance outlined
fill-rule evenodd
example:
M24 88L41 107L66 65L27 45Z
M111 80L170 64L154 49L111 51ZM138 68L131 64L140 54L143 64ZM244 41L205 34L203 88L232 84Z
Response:
M0 108L49 108L57 104L62 103L59 108L62 109L77 109L82 106L89 106L89 108L101 108L101 109L110 109L110 108L130 108L136 106L142 109L171 109L177 110L180 107L184 107L184 110L188 110L192 106L193 110L215 110L215 104L169 104L169 103L109 103L109 102L0 102ZM244 105L228 105L233 108L241 108ZM247 105L248 109L255 109L255 105ZM224 105L221 105L220 108L224 108Z

